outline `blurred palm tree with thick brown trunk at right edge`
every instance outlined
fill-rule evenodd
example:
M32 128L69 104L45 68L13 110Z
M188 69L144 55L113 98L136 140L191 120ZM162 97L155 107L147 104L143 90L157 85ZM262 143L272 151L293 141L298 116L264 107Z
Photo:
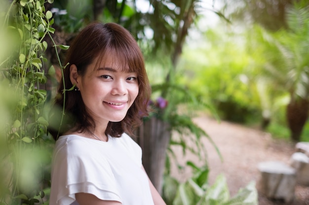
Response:
M264 77L290 94L286 120L291 139L299 141L309 114L309 6L294 3L286 12L288 29L260 29L256 39L260 45L253 45L263 50Z

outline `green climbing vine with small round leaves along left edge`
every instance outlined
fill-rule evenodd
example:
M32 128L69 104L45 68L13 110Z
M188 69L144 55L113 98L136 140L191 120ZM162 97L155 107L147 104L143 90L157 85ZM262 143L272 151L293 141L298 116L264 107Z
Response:
M48 46L45 39L50 38L55 49L67 49L55 45L51 37L55 31L52 13L44 4L52 2L11 0L1 5L6 6L1 10L1 29L10 36L8 44L13 48L0 56L0 80L2 86L12 90L9 97L17 100L7 107L10 117L4 124L7 147L1 162L7 166L3 171L6 179L0 182L0 187L5 187L0 205L44 202L49 187L46 166L50 164L52 144L47 134L46 83L55 70L44 56Z

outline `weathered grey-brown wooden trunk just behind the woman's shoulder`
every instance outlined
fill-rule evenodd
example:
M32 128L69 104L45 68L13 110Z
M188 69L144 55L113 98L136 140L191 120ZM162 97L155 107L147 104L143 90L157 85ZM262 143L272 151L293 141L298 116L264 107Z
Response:
M156 190L161 194L165 169L166 149L171 138L170 126L156 117L139 127L138 143L143 149L143 165Z

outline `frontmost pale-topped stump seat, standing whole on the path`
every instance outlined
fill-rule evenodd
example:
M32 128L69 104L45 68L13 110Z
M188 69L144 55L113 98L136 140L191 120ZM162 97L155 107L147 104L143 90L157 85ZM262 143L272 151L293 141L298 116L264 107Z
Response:
M270 199L283 199L286 203L293 201L296 185L294 168L279 161L262 162L258 168L262 193Z

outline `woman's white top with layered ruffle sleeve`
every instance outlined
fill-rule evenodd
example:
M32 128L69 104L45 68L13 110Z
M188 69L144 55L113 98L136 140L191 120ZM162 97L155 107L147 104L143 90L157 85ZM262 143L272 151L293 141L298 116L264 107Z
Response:
M79 192L123 205L154 205L141 147L125 133L108 136L108 142L61 136L53 153L49 205L70 205Z

